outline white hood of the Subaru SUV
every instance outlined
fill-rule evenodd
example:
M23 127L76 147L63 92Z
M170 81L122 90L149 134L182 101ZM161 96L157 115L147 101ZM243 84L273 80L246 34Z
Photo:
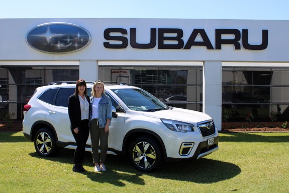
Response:
M208 114L194 110L187 110L182 108L173 108L168 110L159 110L155 112L143 112L145 116L152 118L165 118L170 120L177 120L187 123L197 123L212 119Z

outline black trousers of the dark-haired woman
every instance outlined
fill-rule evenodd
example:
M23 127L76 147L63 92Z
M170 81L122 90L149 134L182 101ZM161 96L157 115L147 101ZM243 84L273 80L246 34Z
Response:
M85 146L89 136L88 119L81 120L81 128L78 134L75 134L73 130L71 132L77 145L73 158L74 164L83 163Z

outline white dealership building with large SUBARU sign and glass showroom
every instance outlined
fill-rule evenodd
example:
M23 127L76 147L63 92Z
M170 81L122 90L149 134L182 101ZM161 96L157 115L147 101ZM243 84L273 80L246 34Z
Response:
M0 116L34 90L103 80L143 88L221 122L289 114L289 21L0 19Z

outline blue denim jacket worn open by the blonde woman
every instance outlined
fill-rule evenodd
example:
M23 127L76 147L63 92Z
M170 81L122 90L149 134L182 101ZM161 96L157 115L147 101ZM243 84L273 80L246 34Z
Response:
M90 105L93 103L93 96L90 96ZM89 125L91 121L91 116L92 116L92 108L89 112L90 114L90 120L89 120ZM111 98L109 96L103 95L102 99L99 102L99 125L100 128L103 128L107 124L107 119L112 119L113 118L113 111L112 111L112 102Z

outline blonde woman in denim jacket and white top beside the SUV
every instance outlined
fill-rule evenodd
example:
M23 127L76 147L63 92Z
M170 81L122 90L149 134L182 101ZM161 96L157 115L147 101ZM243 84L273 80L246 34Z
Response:
M102 81L95 81L90 96L90 138L94 171L106 171L109 127L112 119L111 98L105 94ZM101 143L100 143L101 142ZM100 143L100 145L99 145ZM99 160L99 148L101 149Z

